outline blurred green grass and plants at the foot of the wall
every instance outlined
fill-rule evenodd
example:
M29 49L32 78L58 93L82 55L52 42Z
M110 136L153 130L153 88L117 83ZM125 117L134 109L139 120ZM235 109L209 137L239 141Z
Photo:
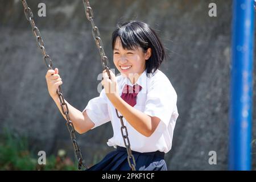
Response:
M10 130L4 129L0 141L0 170L77 170L64 150L58 152L57 156L46 156L46 164L39 164L40 156L28 148L27 137L14 135Z

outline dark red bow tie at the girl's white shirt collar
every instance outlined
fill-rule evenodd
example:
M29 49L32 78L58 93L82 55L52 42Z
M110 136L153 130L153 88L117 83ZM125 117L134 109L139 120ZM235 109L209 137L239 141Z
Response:
M138 84L133 86L125 85L125 87L123 88L121 98L124 101L126 101L129 105L135 106L137 95L139 91L141 91L141 89L142 89L141 85L138 85Z

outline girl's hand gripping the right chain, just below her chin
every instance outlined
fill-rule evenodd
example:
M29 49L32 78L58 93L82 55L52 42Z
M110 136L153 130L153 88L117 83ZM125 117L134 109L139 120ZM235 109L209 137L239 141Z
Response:
M104 86L106 95L109 96L119 96L118 94L118 85L117 85L117 78L115 77L114 73L109 69L110 78L106 70L102 72L101 84Z

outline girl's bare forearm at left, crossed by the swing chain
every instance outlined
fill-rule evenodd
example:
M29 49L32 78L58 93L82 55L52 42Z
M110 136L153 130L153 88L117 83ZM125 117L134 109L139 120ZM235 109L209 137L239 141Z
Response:
M60 104L60 100L59 100L59 97L56 96L56 97L53 97L52 98L53 101L55 101L55 104L57 105L57 107L59 108L60 110L60 113L63 115L63 117L66 119L67 121L67 118L65 116L65 114L63 113L62 109L61 109L61 104ZM72 121L73 123L73 126L75 127L75 130L78 132L78 133L84 133L85 131L85 118L84 118L84 115L82 114L82 112L80 110L77 110L75 107L73 107L72 105L70 105L66 100L65 100L65 103L67 103L67 106L68 106L68 111L69 111L69 120ZM65 111L65 106L64 106L64 111Z

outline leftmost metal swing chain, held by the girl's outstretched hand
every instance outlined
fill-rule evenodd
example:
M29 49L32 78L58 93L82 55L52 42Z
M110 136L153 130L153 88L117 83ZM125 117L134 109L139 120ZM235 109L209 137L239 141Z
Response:
M36 37L36 40L38 42L38 46L39 46L39 48L41 49L41 51L43 53L44 62L46 63L48 69L52 69L51 57L47 54L46 49L44 48L44 42L43 42L42 36L41 36L41 34L38 30L38 27L35 26L33 13L31 11L31 9L27 6L26 0L20 0L20 1L22 1L23 7L24 7L24 14L25 14L27 20L31 24L32 32L33 32L34 36ZM75 156L76 156L77 161L78 161L78 169L80 170L82 168L88 168L84 163L84 159L82 158L80 148L77 144L76 135L75 135L75 128L73 126L72 121L69 119L68 105L64 100L63 92L62 92L60 86L57 88L56 92L59 96L59 100L60 100L60 104L61 104L61 110L63 111L63 114L65 115L65 118L67 119L66 126L68 128L68 131L69 131L72 143L73 143Z

